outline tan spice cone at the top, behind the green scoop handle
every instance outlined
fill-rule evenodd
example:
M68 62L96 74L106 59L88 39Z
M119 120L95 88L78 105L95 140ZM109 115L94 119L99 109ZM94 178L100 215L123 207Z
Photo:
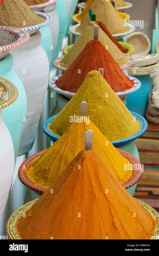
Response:
M115 8L111 4L110 0L96 0L92 5L91 9L96 14L96 21L101 21L106 26L111 34L118 34L128 31L130 28L124 26L124 21L116 12ZM86 13L81 26L78 26L76 31L81 33L90 21L89 12Z

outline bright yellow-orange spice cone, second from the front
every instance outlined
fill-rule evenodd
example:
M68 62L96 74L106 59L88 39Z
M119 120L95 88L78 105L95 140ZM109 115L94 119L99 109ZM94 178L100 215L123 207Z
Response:
M132 170L125 171L124 164L129 161L121 156L91 120L78 118L76 122L70 121L73 120L69 117L68 122L71 126L63 136L32 163L28 171L30 180L39 186L48 188L74 157L84 149L85 132L91 129L94 132L93 151L103 159L121 184L128 181L132 176Z

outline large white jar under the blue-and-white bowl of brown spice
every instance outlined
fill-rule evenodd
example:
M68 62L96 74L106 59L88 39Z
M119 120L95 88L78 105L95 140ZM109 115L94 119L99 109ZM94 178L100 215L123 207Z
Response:
M41 33L30 37L29 42L13 51L13 69L21 79L27 94L27 115L24 120L18 155L30 151L36 137L36 131L43 102L48 88L49 61L40 45Z

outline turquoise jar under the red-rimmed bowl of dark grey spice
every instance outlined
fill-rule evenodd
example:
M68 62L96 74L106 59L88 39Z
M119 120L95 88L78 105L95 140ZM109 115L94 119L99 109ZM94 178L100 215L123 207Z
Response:
M24 118L27 112L27 96L20 78L12 69L12 65L13 57L11 54L0 60L0 76L12 82L17 87L19 93L15 102L2 109L2 119L10 132L16 161L21 132L25 121Z

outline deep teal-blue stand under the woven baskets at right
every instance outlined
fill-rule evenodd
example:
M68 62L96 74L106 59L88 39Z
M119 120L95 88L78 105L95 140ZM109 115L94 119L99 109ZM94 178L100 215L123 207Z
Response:
M127 95L126 107L145 117L148 104L149 93L151 92L152 82L150 75L134 75L141 82L141 87L136 92Z

